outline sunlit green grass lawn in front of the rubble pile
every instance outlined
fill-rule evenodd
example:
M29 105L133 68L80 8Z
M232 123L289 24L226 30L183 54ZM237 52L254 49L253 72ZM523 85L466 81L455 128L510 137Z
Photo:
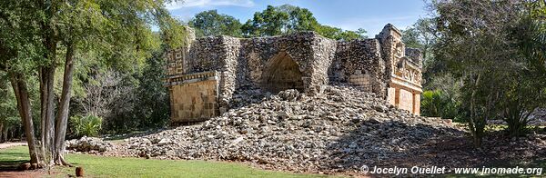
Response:
M66 159L75 166L84 167L88 177L327 177L320 174L266 171L238 163L147 160L86 154L67 154ZM18 165L27 160L28 150L25 146L0 150L0 164ZM75 168L57 167L54 172L66 177L66 174L74 175Z

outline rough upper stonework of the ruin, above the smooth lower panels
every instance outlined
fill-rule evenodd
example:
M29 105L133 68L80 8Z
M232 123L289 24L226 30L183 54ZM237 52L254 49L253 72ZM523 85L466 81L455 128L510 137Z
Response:
M298 83L292 87L301 85L306 93L318 92L324 84L345 83L385 97L390 78L406 73L400 65L409 66L404 70L421 66L420 51L405 48L393 25L386 25L376 38L351 41L335 41L314 32L190 38L186 47L167 53L168 75L216 72L220 106L227 106L238 89L269 89L268 83L279 85L278 89ZM286 86L279 81L286 81Z

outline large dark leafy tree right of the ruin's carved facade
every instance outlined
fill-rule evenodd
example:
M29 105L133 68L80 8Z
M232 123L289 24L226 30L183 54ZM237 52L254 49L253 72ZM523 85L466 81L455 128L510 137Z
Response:
M528 83L541 79L533 77L525 82L528 79L519 77L529 73L527 68L544 65L543 60L535 60L537 57L525 57L522 52L527 47L517 40L536 34L517 30L529 12L526 5L527 2L485 0L432 4L439 15L436 24L440 36L432 48L434 56L462 81L461 101L466 102L461 104L460 111L469 124L476 147L481 145L488 119L505 117L502 113L514 107L522 108L516 109L520 112L514 115L529 113L532 112L530 106L542 103L540 99L526 100L528 103L513 100L513 96L519 94L541 95L543 91L543 85L532 87L533 84ZM523 41L532 42L531 54L543 54L544 44L535 43L543 41L543 37L535 35L525 39ZM541 76L541 72L532 75Z

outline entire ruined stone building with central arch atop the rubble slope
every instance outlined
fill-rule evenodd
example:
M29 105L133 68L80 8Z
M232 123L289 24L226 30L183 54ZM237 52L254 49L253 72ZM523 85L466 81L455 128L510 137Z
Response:
M412 114L420 114L420 50L406 48L400 31L385 25L375 38L335 41L315 32L257 38L195 38L167 52L171 121L205 121L227 111L233 94L258 88L319 94L349 84Z

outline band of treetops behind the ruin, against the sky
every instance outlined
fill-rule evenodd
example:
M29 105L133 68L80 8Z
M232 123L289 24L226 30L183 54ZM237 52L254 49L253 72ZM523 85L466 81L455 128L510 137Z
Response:
M319 35L337 40L368 37L366 30L362 28L357 31L349 31L329 25L320 25L308 9L294 5L268 5L265 10L256 12L243 25L233 16L218 15L217 10L210 10L197 14L189 22L189 25L197 29L197 36L260 37L315 31Z

